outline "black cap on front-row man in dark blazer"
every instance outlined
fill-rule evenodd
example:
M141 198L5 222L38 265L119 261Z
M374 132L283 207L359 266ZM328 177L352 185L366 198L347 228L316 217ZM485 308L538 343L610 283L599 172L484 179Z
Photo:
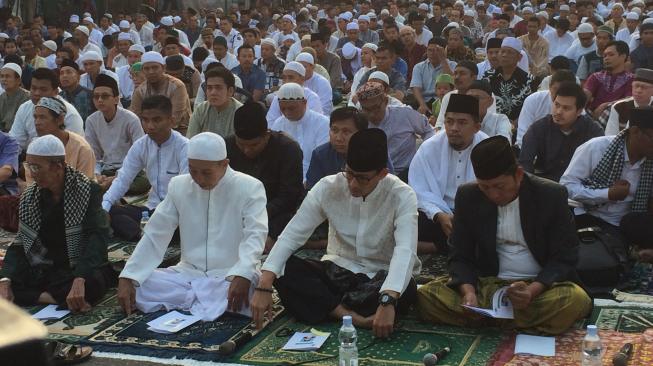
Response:
M472 150L471 160L478 179L494 179L517 166L510 141L504 136L479 142Z

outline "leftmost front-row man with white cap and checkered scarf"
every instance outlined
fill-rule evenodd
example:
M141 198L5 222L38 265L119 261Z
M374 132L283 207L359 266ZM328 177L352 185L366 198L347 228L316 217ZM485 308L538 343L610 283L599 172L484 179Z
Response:
M53 135L27 148L25 167L35 183L20 199L18 235L0 271L0 298L85 312L115 284L107 258L110 229L100 187L67 166L65 154Z

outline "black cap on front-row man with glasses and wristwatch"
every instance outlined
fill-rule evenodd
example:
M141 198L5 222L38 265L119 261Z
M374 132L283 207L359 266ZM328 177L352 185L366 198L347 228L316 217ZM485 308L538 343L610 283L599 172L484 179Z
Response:
M379 128L353 134L347 147L347 166L355 172L381 170L388 166L388 137Z

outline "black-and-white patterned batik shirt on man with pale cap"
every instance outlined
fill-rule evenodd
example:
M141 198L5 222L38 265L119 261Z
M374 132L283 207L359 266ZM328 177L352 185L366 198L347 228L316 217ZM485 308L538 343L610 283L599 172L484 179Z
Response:
M511 121L517 120L524 100L535 92L533 76L519 67L505 80L501 67L485 72L484 78L492 86L492 93L497 101L497 113L505 114Z

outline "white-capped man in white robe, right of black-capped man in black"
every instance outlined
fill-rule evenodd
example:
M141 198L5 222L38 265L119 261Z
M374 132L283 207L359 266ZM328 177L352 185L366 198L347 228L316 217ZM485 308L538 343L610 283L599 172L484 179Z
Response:
M283 84L277 98L283 115L270 125L270 129L285 132L299 143L304 153L302 166L306 180L313 150L329 141L329 119L307 108L304 88L299 84Z

